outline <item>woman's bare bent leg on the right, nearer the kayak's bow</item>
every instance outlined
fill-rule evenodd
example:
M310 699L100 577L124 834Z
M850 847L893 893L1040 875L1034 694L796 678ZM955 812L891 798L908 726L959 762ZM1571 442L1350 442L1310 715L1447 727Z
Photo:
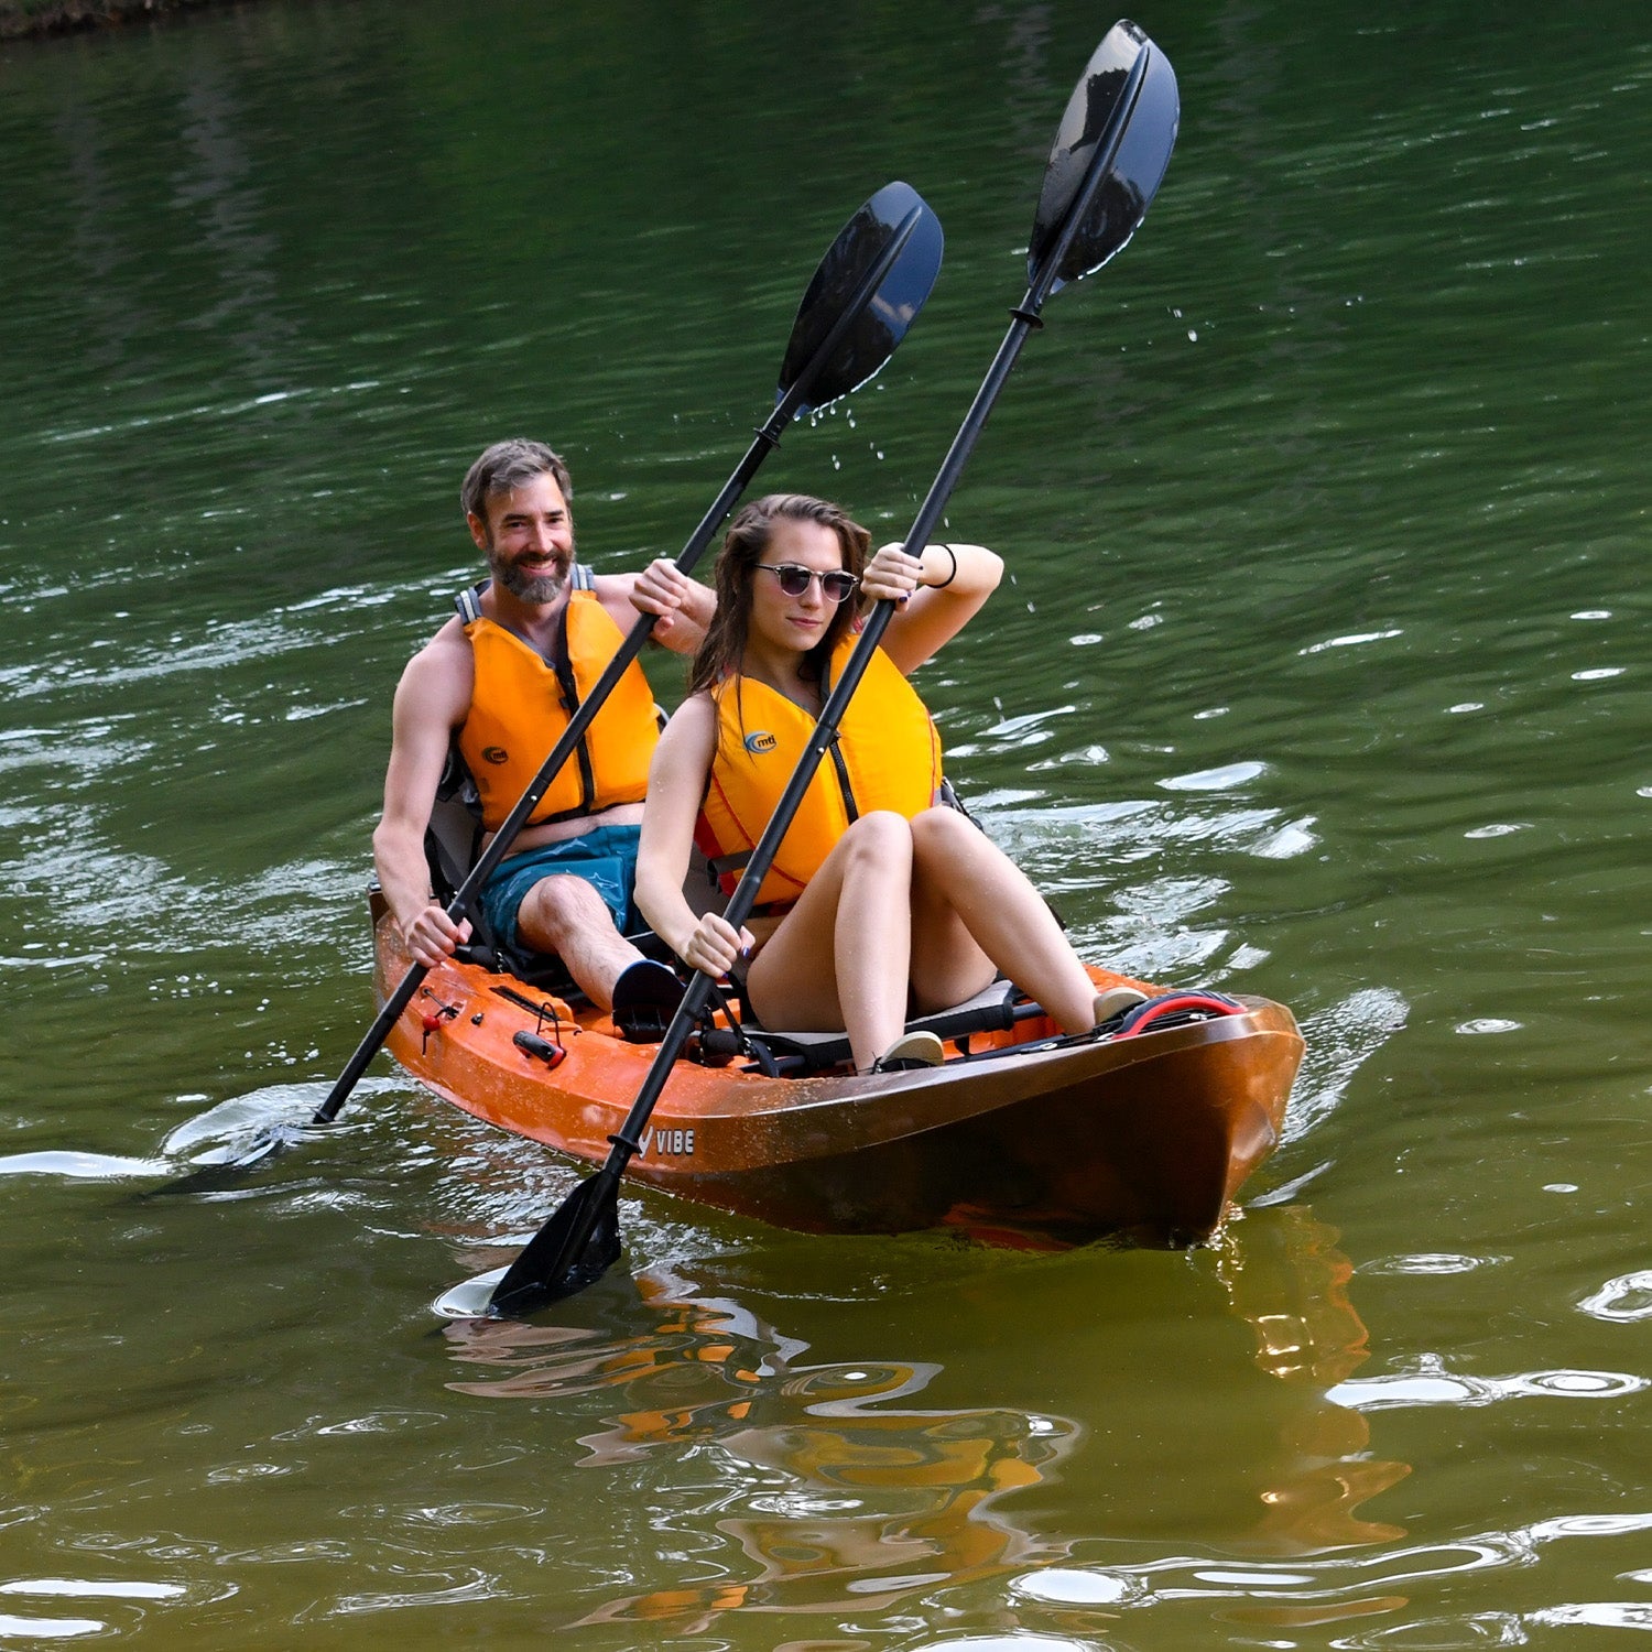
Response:
M998 968L1064 1032L1095 1024L1095 985L1028 876L957 809L912 821L912 990L923 1009L978 993Z

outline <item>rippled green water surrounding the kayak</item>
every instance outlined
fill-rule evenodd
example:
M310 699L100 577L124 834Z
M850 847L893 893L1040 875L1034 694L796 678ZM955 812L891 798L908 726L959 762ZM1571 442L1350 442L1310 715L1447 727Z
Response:
M1186 1256L649 1194L439 1320L573 1171L375 1066L388 694L466 463L676 550L839 223L948 258L765 486L910 519L1110 17L268 0L0 53L0 1645L1634 1644L1652 1626L1642 10L1166 0L1183 132L1054 299L925 672L1087 955L1290 1004ZM1635 639L1642 641L1637 643ZM669 661L651 664L674 699Z

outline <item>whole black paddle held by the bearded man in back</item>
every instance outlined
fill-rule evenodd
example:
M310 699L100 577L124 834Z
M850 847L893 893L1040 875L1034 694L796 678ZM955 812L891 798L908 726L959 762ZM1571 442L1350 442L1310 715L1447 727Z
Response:
M733 474L724 482L722 492L700 519L689 537L677 568L687 573L699 560L712 535L735 507L747 482L758 466L780 446L786 425L805 413L849 395L864 385L894 355L907 335L923 302L935 286L942 259L940 220L923 198L907 183L885 183L843 226L838 240L826 249L814 279L809 281L803 302L791 324L785 362L780 368L780 388L775 392L775 411L758 430L757 439ZM522 824L539 806L545 790L562 771L563 763L578 748L585 730L601 710L615 684L641 653L654 628L654 616L643 615L631 626L620 653L598 677L583 704L568 719L562 738L552 747L527 791L517 800L494 834L482 857L448 902L448 917L463 919L477 890L494 874L499 862L510 852ZM401 983L385 1001L355 1054L339 1074L327 1099L316 1108L312 1125L332 1123L368 1062L390 1037L392 1028L413 1001L430 966L413 963ZM286 1145L286 1138L266 1132L238 1158L215 1170L238 1170L266 1158Z

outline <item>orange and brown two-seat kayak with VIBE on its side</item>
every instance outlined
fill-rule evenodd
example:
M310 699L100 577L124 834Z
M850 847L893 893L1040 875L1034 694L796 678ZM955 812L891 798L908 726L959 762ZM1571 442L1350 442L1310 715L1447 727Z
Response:
M375 895L375 991L410 958ZM847 1041L740 1028L725 1008L689 1042L628 1178L805 1232L961 1227L991 1237L1160 1246L1214 1232L1279 1142L1302 1036L1265 998L1163 995L1064 1037L1008 983L914 1026L938 1067L857 1075ZM572 995L570 995L572 996ZM443 1100L600 1163L654 1059L613 1019L486 961L431 970L388 1037Z

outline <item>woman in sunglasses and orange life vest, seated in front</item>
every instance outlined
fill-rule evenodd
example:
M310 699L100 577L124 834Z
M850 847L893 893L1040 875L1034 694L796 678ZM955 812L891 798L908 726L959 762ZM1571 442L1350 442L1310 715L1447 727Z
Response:
M999 971L1062 1031L1087 1032L1104 1006L1049 909L985 833L937 806L940 743L905 682L986 601L1003 563L950 544L922 557L884 545L867 562L869 539L805 494L735 517L717 615L649 770L638 907L692 968L743 963L747 1004L768 1026L847 1031L857 1072L938 1062L933 1034L902 1034L909 1003L945 1009ZM682 894L691 844L699 834L732 889L849 657L857 586L900 606L750 927L697 917Z

